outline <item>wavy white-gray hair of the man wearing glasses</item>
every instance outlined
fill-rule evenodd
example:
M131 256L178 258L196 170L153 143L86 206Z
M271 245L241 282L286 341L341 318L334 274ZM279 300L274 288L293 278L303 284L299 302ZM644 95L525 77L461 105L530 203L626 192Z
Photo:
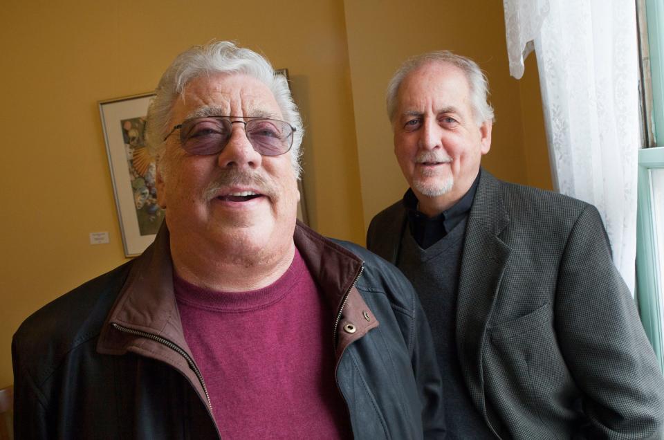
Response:
M239 48L231 42L213 42L205 46L194 46L176 57L159 80L156 95L147 111L145 140L152 156L160 159L164 138L173 128L171 111L175 100L182 95L185 86L201 75L211 73L239 73L255 77L268 86L284 115L284 120L295 127L291 160L295 175L299 178L300 145L304 127L297 105L284 75L275 73L265 57L247 48ZM176 121L181 122L181 121Z

